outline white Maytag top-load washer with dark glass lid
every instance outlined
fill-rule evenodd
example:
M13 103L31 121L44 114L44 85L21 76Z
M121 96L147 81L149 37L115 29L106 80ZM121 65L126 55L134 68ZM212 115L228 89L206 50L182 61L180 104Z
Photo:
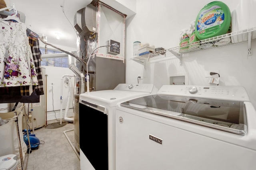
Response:
M242 86L165 85L116 106L116 170L255 170L255 159Z

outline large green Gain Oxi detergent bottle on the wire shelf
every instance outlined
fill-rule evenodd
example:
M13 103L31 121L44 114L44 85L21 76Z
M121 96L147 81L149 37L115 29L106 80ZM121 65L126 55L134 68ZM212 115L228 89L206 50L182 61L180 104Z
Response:
M210 2L196 17L196 36L202 40L226 34L230 23L231 14L228 6L220 1Z

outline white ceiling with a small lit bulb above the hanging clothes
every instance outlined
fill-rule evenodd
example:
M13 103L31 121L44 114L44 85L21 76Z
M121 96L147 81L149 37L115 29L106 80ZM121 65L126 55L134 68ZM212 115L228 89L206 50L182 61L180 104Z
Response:
M47 43L61 49L62 46L76 49L74 15L90 2L92 0L10 0L17 11L25 14L25 23L32 31L44 34L47 36ZM63 6L64 12L60 6ZM60 40L55 38L55 33L61 34Z

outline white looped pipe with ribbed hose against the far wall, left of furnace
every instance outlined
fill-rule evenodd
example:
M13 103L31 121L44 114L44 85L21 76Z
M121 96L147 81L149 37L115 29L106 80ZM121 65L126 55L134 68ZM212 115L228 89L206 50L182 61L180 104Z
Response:
M62 94L63 94L63 78L64 78L64 77L76 77L76 76L75 76L75 75L63 75L62 78L61 78L61 82L60 82L60 83L61 83L61 85L60 85L60 125L62 124L62 103L63 103ZM70 81L70 80L69 80L69 81ZM66 106L65 113L68 113L68 109L69 109L70 88L71 88L71 83L69 82L68 103L67 103L67 106ZM65 114L65 116L66 116L66 114ZM74 121L74 118L64 117L64 120L73 122L73 121Z

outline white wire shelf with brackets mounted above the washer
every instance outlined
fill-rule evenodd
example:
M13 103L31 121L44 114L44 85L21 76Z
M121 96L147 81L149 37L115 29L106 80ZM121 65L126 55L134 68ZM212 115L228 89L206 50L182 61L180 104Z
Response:
M180 59L180 64L182 64L183 54L194 53L197 51L205 51L209 49L216 49L220 47L226 47L238 43L243 43L248 41L248 55L252 55L251 51L251 41L252 35L256 37L256 27L244 29L241 31L236 31L232 33L227 33L224 35L219 35L209 39L200 40L194 43L188 43L186 46L178 46L170 49L164 49L161 51L156 51L146 55L141 55L132 58L134 61L144 63L145 61L151 61L155 59L162 59L166 57L176 56Z

